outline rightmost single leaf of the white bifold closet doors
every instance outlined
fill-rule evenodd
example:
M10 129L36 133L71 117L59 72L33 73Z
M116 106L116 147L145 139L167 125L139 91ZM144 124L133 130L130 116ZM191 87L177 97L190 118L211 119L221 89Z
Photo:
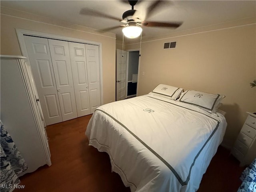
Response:
M88 85L91 112L101 105L100 102L100 62L99 47L85 44L88 70Z

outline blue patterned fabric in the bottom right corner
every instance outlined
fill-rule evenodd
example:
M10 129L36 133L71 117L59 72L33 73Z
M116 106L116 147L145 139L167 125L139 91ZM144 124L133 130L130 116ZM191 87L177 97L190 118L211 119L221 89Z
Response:
M243 181L237 192L256 192L256 158L248 166L240 179Z

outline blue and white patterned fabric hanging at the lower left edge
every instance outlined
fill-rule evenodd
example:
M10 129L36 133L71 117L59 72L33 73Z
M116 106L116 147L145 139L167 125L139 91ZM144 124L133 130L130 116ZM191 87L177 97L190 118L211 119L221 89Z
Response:
M20 152L16 148L12 138L4 128L2 121L0 120L1 129L0 129L0 140L1 140L1 192L12 191L14 185L20 183L18 174L28 169L27 164L25 163Z

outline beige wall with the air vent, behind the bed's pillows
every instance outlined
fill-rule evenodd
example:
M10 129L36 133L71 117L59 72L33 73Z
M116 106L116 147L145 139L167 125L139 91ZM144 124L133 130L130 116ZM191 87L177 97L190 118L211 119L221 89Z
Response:
M228 122L223 144L231 147L246 111L256 111L256 88L250 87L256 79L255 34L256 25L250 24L143 42L138 94L147 94L160 83L225 94L220 108L227 112ZM177 48L163 50L164 42L170 41L177 41Z

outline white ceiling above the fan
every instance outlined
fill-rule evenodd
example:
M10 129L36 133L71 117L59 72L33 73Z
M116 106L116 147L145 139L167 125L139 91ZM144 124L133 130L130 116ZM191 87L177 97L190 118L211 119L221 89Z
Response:
M134 9L144 15L146 8L153 1L139 1ZM110 16L122 19L122 14L130 10L131 6L121 0L29 0L29 1L0 1L1 6L78 24L94 29L105 29L119 26L123 23L110 18L88 16L80 14L82 8L90 8ZM256 1L197 1L197 0L174 0L166 1L154 12L153 16L146 19L156 22L183 22L179 28L143 27L142 36L152 37L172 32L194 29L244 18L254 17L256 20ZM122 40L122 30L117 28L111 30L116 34L117 40Z

